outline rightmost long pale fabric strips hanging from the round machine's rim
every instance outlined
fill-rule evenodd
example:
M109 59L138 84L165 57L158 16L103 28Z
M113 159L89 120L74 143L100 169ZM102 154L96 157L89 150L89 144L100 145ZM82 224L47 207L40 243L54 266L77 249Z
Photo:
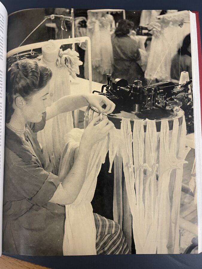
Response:
M186 123L183 116L179 128L174 120L173 130L169 132L168 122L162 121L159 153L159 220L158 253L179 253L179 217L182 187L183 164L190 148L185 147ZM165 180L167 179L167 180Z

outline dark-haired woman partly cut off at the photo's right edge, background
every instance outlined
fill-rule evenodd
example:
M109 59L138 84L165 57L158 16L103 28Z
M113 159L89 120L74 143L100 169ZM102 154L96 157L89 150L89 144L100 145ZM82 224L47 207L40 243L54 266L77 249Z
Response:
M182 71L188 72L189 79L192 79L192 54L190 34L184 38L181 48L179 48L177 54L172 59L171 79L179 81L179 75Z

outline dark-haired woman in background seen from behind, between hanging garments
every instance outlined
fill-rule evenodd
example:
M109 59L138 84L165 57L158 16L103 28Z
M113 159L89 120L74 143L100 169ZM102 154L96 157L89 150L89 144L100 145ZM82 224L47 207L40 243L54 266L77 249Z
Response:
M141 60L139 47L136 40L130 38L133 26L133 22L121 20L112 35L113 79L126 79L129 84L134 80L144 81L144 72L137 63Z

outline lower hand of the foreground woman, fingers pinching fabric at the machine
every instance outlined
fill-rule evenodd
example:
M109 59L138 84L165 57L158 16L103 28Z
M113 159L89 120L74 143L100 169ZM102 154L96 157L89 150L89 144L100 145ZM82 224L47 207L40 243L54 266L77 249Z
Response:
M92 147L94 144L103 140L108 135L109 131L113 129L114 124L108 120L107 116L101 122L99 122L99 120L100 116L95 117L84 130L81 143L84 143L85 147Z

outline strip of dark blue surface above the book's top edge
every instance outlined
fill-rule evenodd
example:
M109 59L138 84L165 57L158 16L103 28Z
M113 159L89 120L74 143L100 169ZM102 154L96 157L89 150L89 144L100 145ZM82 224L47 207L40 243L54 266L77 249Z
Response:
M202 25L202 1L201 0L1 0L8 14L17 10L39 7L69 7L69 8L114 8L114 9L176 9L199 11L200 24ZM202 33L201 33L202 36Z

